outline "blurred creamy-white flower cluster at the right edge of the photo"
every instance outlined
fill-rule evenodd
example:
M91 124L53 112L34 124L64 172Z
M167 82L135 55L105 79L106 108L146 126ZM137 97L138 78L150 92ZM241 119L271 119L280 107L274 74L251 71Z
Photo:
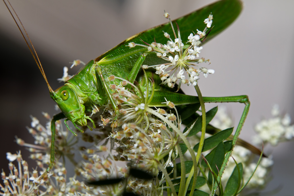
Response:
M278 105L273 106L272 115L273 118L262 120L255 125L255 131L258 135L253 138L253 142L256 145L261 145L262 142L277 145L281 141L294 137L294 125L290 125L290 115L285 114L282 117Z

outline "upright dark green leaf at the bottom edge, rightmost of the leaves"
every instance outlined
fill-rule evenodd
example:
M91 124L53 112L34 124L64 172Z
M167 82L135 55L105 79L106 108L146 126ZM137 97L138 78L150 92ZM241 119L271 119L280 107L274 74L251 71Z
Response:
M239 167L240 173L238 172L238 167ZM234 169L231 177L229 178L227 185L225 186L224 196L233 196L233 195L235 195L236 191L239 189L239 187L238 187L238 185L240 186L240 183L238 183L239 175L240 175L240 179L242 179L242 176L243 176L242 163L238 163L238 167L237 167L237 165L235 166L235 169Z

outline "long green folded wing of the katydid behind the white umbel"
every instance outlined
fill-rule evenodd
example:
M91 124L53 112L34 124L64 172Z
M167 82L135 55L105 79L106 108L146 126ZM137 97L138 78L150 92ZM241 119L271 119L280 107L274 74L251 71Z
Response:
M203 21L212 12L214 27L206 38L206 41L204 41L204 43L206 43L232 24L240 14L241 9L242 2L239 0L218 1L176 19L173 25L174 28L177 29L176 23L178 24L181 31L181 39L183 43L186 43L192 31L196 32L196 29L201 30L205 28L206 24L204 24ZM172 13L170 14L173 16ZM139 56L147 50L145 47L136 46L134 48L129 48L126 45L130 42L143 44L141 39L147 43L152 43L154 38L157 43L165 44L168 39L163 36L162 31L169 33L171 38L174 39L171 25L167 22L126 39L116 47L96 58L95 61L101 66L104 77L115 75L126 79ZM147 55L144 64L157 65L163 62L166 63L163 59L158 58L156 54L152 54Z

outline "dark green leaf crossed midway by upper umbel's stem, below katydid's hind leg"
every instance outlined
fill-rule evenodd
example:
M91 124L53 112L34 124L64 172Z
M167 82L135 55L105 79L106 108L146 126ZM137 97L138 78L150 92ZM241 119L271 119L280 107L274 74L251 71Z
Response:
M206 112L206 125L213 119L213 117L216 115L216 112L218 111L218 106L212 108L208 112ZM191 137L192 135L195 135L199 131L201 131L201 126L202 126L202 117L199 117L195 120L193 120L190 124L187 125L187 127L184 129L183 133L185 133L188 128L193 125L193 123L196 121L195 125L193 128L190 130L190 133L187 135L187 137Z

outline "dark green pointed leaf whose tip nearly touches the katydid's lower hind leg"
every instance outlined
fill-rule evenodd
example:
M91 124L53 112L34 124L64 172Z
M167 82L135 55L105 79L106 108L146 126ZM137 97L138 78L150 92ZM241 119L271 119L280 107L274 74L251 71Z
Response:
M233 127L222 130L222 131L218 132L217 134L215 134L209 138L206 138L204 140L202 152L205 152L206 150L210 150L211 148L215 147L221 141L227 139L232 134L232 132L233 132ZM197 152L198 147L199 147L199 143L194 146L193 150L195 152Z

